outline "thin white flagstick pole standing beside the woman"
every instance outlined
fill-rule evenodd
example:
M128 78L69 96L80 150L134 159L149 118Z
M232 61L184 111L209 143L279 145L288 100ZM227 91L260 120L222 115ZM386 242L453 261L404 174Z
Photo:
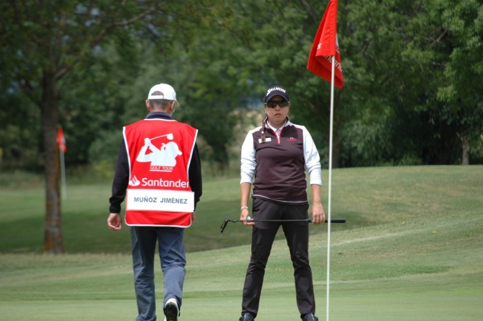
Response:
M331 79L331 133L328 147L328 207L327 207L327 321L329 313L329 290L331 282L331 189L332 189L332 134L334 121L334 74L335 55L332 56L332 79Z

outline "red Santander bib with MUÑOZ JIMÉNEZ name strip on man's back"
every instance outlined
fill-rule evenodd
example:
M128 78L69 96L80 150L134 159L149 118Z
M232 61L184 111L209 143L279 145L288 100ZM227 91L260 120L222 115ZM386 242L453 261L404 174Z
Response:
M197 133L173 119L144 119L124 127L129 158L126 224L191 225L195 195L188 168Z

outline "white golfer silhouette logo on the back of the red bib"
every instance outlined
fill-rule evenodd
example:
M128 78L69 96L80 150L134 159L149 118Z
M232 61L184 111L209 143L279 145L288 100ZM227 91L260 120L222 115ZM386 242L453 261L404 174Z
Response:
M169 140L173 139L172 134L161 135L154 138L145 138L144 146L139 150L137 162L150 162L150 171L172 172L172 168L176 166L176 157L182 155L178 145L175 142L162 143L159 148L152 144L152 141L161 137ZM148 152L150 150L150 152Z

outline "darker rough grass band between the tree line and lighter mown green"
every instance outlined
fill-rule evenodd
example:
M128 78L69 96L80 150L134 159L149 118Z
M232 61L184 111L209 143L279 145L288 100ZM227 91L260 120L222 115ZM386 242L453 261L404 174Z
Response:
M88 174L86 174L88 175ZM322 199L327 207L328 173L323 172ZM0 253L42 253L45 193L43 187L27 188L18 173L0 188ZM4 177L4 178L1 178ZM17 178L15 178L17 177ZM21 186L21 188L16 187ZM333 170L332 217L346 217L347 224L332 224L332 231L406 222L418 217L452 215L483 208L483 166L402 166ZM69 184L61 212L66 253L129 253L129 231L109 231L106 226L110 184ZM328 215L328 213L326 213ZM229 223L239 216L239 179L205 179L197 206L197 221L186 231L189 252L248 244L250 230ZM311 226L311 233L321 228ZM283 235L278 235L283 238Z

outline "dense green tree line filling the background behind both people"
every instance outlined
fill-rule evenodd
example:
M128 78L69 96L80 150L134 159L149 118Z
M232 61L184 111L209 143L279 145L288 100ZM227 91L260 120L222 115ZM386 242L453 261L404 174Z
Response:
M146 115L159 82L175 87L175 117L199 128L202 157L220 170L245 135L233 128L273 84L327 164L330 84L306 70L327 3L3 1L0 166L43 168L60 224L58 126L68 164L111 164L121 126ZM480 0L341 0L337 33L333 166L483 163Z

